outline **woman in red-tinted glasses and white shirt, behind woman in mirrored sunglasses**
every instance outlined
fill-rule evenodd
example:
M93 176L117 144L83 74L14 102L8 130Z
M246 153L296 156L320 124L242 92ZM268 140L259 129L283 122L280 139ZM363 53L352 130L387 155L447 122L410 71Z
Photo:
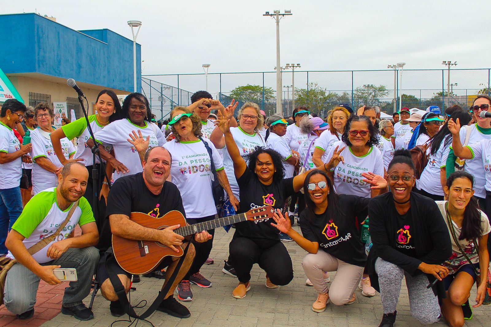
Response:
M329 172L337 194L373 197L378 193L363 181L361 175L368 171L383 175L383 159L377 144L377 131L368 117L348 119L341 141L334 143L327 155L332 157L335 149L343 148L342 160Z

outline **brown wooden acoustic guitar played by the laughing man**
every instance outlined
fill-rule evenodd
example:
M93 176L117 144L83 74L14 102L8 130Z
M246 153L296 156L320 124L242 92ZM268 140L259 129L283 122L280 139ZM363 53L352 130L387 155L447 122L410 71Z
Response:
M216 218L205 222L188 225L186 219L179 211L171 211L160 218L155 218L141 212L133 212L130 220L148 228L164 229L180 224L174 233L188 236L203 230L210 230L241 221L259 221L273 218L274 209L271 206L251 209L246 213ZM180 257L183 249L177 246L179 252L175 252L160 242L128 240L120 236L112 235L112 249L119 266L128 273L142 274L155 270L160 262L167 256Z

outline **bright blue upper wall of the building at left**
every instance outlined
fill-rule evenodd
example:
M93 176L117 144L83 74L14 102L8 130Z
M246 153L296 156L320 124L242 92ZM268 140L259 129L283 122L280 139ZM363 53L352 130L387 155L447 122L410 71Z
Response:
M133 92L133 41L109 29L76 31L34 13L0 15L0 68ZM136 44L141 90L141 46Z

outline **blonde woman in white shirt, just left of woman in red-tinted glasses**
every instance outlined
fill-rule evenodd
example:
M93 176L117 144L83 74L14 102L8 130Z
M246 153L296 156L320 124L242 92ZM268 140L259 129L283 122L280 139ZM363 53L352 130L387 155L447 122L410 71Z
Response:
M348 121L348 118L350 118L350 115L350 111L343 107L336 107L329 111L327 116L329 130L319 136L319 139L316 141L314 154L312 155L312 162L316 166L320 166L329 161L330 157L327 158L327 155L329 154L332 145L341 140L346 122Z

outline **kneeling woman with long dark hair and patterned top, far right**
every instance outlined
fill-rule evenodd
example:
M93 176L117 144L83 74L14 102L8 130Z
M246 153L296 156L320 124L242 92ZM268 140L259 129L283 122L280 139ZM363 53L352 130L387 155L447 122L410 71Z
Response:
M447 297L441 300L443 316L451 327L464 326L464 317L472 316L468 299L478 269L483 278L481 284L477 285L476 304L473 307L483 303L486 293L489 267L486 244L491 227L486 215L479 210L477 200L473 198L473 183L474 177L471 174L463 170L456 171L450 174L444 188L448 201L436 201L452 240L452 255L444 263L449 271L443 279Z

